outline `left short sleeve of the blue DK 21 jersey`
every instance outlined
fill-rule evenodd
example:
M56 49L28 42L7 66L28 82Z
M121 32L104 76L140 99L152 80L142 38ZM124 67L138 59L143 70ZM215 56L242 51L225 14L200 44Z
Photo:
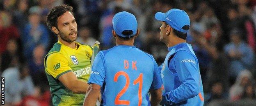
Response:
M104 55L101 51L96 55L94 63L91 68L91 75L88 80L88 84L98 84L102 87L105 81L105 62Z

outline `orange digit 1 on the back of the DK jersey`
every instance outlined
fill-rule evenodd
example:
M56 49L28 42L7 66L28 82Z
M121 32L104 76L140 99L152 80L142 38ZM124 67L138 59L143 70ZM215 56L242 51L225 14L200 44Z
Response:
M139 91L138 91L138 97L139 97L139 104L138 106L141 106L142 104L142 82L143 82L143 74L139 74L139 77L134 80L133 85L139 83Z

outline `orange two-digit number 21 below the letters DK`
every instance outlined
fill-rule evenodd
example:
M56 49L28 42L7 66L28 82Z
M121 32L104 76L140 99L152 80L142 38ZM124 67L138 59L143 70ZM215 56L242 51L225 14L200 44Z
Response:
M115 98L115 101L114 101L114 104L115 105L130 105L130 101L128 101L128 100L119 100L120 97L126 92L126 90L129 87L129 84L130 84L129 75L124 71L119 71L115 74L114 82L117 82L117 79L120 75L123 75L126 78L126 84L123 87L123 89L117 94L117 96ZM133 81L133 85L136 85L136 84L139 83L139 91L138 91L139 103L138 103L138 106L141 106L141 104L142 104L142 83L143 83L142 78L143 78L143 74L140 73L139 77Z

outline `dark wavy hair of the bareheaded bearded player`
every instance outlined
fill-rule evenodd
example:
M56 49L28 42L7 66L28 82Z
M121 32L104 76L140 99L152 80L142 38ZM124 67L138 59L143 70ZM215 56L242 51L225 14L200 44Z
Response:
M56 27L58 29L57 18L63 15L66 11L69 11L72 13L72 15L74 15L73 7L68 6L66 4L55 6L53 7L53 9L50 10L46 19L46 24L50 30L52 29L52 27Z

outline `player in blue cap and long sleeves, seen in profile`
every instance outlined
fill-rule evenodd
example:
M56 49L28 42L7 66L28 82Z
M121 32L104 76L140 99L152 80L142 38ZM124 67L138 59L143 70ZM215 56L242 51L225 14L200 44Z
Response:
M190 18L180 9L167 13L158 12L155 19L160 20L160 41L164 42L169 53L160 66L164 88L163 106L203 106L203 85L199 63L192 46L186 43Z

